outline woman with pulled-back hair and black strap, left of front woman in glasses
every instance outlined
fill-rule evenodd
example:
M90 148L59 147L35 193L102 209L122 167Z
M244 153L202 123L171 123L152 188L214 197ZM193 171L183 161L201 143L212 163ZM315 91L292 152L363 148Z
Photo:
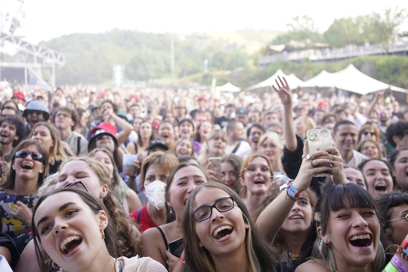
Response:
M184 206L197 186L208 182L208 174L196 164L181 163L171 170L164 192L170 223L142 233L143 256L151 257L172 271L184 250L182 219ZM175 219L174 219L175 218Z

